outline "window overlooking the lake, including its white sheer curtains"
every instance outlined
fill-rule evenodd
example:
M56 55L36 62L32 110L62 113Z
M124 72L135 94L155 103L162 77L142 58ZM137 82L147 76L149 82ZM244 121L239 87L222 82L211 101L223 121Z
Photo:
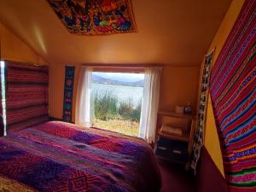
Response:
M98 71L98 69L99 68L97 67L90 66L81 67L78 91L76 96L75 123L77 125L83 125L87 127L90 127L92 124L94 124L99 128L106 129L107 125L100 124L102 123L101 121L107 121L109 119L119 119L123 122L127 122L127 120L130 120L130 122L135 121L137 122L137 125L139 125L139 128L137 129L137 131L131 132L130 135L142 137L146 139L148 143L154 142L160 96L161 67L143 68L143 74L113 73L115 76L119 75L120 78L123 78L123 84L118 84L117 86L117 81L120 81L120 79L112 79L111 81L104 82L104 84L107 84L109 87L113 86L113 83L115 84L115 90L110 89L109 91L104 90L105 88L103 87L96 90L96 84L99 82L96 82L97 77L93 77L93 75L98 74L99 76L99 73L94 72L96 70ZM112 73L102 73L102 75L107 75L108 78L110 74ZM125 82L126 75L130 76L130 80L128 82ZM140 88L142 90L140 94L137 94L137 86L134 85L135 82L139 82L139 79L137 79L137 81L131 81L131 76L135 75L143 75L143 79L141 79L143 80L143 89ZM103 76L100 78L106 77ZM116 89L117 87L122 86L126 86L126 89L128 89L128 87L131 87L131 85L133 86L132 89L126 90L126 92L122 92L125 90ZM121 95L121 97L119 97L119 95ZM139 102L134 102L134 100L129 99L129 97L137 98L137 101L142 101L142 104L140 105L138 104ZM102 102L99 102L97 100L100 100ZM98 110L98 108L102 110ZM139 112L140 110L141 113ZM127 113L127 111L130 111L130 113ZM110 115L108 115L108 113L110 113ZM138 113L140 113L141 115L139 118L136 118L137 115L135 114ZM134 117L132 117L132 114L134 115ZM138 121L140 122L139 124ZM128 126L131 127L131 125ZM111 127L113 129L113 126ZM124 125L117 125L116 127L118 127L117 129L119 130L125 130ZM129 134L126 132L123 133Z

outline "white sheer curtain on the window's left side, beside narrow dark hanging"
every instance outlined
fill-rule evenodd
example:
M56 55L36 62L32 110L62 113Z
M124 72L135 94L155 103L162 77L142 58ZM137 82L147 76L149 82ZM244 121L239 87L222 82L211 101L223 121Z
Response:
M90 87L91 67L82 67L79 75L79 84L76 96L75 124L90 126Z

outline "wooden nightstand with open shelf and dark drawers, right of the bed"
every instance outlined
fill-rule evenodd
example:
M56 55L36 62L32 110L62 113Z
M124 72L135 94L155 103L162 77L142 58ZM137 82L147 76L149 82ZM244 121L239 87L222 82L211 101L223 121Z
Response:
M182 135L161 131L162 125L169 125L182 130ZM189 169L189 160L193 147L195 117L170 111L158 113L157 143L154 152L160 158L172 160Z

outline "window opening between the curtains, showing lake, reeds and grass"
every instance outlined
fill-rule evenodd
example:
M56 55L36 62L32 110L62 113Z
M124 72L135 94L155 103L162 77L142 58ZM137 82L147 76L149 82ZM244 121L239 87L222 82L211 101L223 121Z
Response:
M93 72L92 126L138 136L143 101L143 73Z

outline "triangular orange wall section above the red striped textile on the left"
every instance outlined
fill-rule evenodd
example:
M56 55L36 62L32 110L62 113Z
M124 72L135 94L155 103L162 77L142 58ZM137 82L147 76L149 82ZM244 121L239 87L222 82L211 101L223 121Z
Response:
M47 61L35 53L24 42L17 38L13 32L10 32L0 23L0 43L1 59L9 61L20 61L27 63L36 63L47 65Z

